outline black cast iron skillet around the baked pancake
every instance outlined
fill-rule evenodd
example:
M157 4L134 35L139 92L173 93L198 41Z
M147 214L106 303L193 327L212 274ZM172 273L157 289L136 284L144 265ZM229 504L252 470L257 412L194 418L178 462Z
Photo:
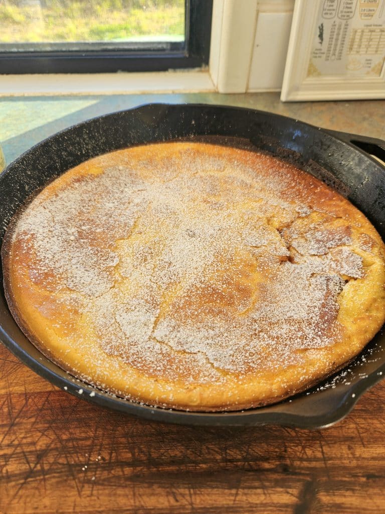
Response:
M385 160L380 140L320 130L271 113L219 105L144 105L72 126L33 146L0 175L0 238L29 195L91 157L127 146L191 136L245 138L289 159L348 197L385 236ZM2 279L2 277L0 277ZM3 281L1 280L1 284ZM69 393L128 414L188 425L265 425L319 428L349 413L359 396L385 376L385 335L318 387L275 405L233 413L192 413L138 405L73 379L46 359L14 322L0 286L0 340L33 371Z

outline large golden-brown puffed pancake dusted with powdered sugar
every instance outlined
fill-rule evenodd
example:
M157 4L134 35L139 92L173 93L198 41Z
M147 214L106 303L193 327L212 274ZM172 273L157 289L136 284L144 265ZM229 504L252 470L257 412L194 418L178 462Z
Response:
M197 411L265 405L361 351L385 318L367 218L275 157L199 142L95 157L11 222L17 323L75 377Z

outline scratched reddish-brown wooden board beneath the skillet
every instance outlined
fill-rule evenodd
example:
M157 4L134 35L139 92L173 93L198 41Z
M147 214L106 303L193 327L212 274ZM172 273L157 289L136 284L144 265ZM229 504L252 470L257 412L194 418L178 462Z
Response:
M385 383L322 431L192 428L103 410L0 344L2 514L385 513Z

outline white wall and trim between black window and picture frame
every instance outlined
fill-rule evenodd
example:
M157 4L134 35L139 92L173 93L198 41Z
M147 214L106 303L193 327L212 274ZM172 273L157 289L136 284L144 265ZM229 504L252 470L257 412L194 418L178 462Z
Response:
M220 93L280 90L294 0L214 0L209 70Z

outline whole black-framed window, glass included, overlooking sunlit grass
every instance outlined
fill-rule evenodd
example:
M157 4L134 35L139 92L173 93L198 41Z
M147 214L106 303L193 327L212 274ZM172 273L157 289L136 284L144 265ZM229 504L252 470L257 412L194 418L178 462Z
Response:
M212 0L0 0L0 73L208 63Z

